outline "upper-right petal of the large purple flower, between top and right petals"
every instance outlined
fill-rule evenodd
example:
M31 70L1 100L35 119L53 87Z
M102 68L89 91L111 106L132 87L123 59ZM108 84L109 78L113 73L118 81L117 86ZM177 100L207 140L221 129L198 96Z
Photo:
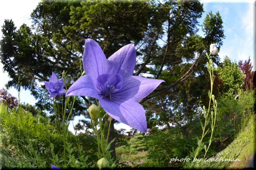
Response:
M136 49L134 44L123 46L108 58L109 73L119 73L123 79L132 76L136 63Z

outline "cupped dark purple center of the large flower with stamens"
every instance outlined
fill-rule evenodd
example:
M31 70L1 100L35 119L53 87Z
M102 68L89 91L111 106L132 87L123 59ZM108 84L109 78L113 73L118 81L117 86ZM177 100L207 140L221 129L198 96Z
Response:
M97 77L97 86L99 90L99 95L102 99L111 99L111 94L119 91L122 87L123 79L120 74L110 75L102 74Z

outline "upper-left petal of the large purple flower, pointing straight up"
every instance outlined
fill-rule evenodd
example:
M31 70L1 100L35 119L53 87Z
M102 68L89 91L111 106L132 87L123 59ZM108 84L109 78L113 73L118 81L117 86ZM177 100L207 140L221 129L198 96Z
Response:
M107 74L107 59L99 44L92 39L86 39L84 44L83 66L85 74L96 82L97 77Z

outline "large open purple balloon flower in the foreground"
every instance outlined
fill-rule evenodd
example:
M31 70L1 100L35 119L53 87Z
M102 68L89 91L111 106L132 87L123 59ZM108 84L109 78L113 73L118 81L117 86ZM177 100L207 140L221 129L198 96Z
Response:
M136 63L134 44L128 44L106 59L92 39L84 45L85 76L68 89L66 96L90 96L117 121L146 132L143 107L137 102L151 93L163 80L132 76Z

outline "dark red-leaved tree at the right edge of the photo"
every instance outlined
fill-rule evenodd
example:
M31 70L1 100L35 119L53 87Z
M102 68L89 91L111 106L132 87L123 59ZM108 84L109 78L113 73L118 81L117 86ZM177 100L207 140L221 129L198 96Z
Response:
M254 73L254 71L252 71L253 66L252 66L250 57L244 62L243 60L240 60L238 62L238 65L240 70L245 74L244 84L242 88L244 90L248 88L248 90L250 91L251 89L253 89L253 73Z

